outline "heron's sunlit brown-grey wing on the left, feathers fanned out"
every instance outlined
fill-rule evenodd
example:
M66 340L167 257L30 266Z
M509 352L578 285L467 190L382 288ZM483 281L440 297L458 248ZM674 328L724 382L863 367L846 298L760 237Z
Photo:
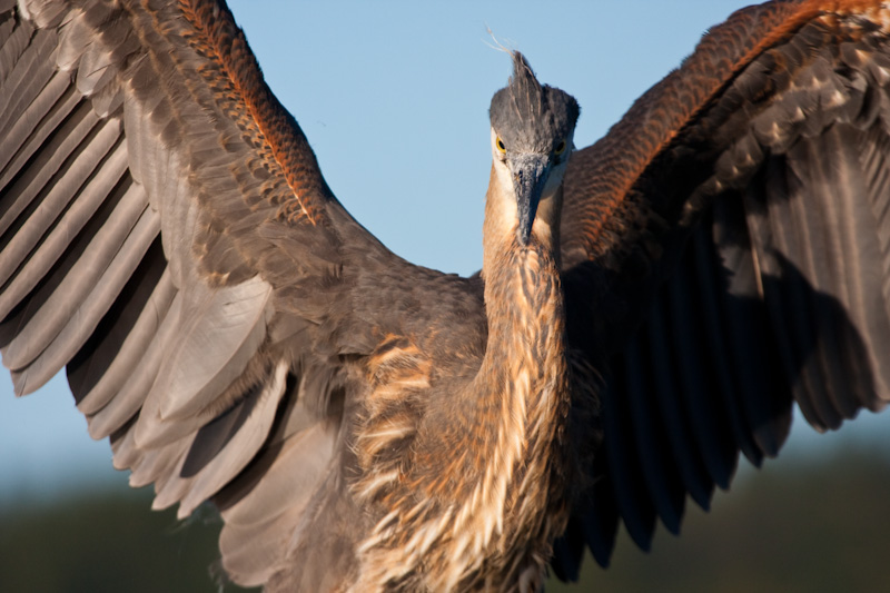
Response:
M3 364L19 394L67 366L116 467L180 516L212 498L227 572L263 583L339 487L363 388L344 362L412 329L367 312L429 328L414 290L478 313L479 284L349 217L225 4L19 6L0 0Z

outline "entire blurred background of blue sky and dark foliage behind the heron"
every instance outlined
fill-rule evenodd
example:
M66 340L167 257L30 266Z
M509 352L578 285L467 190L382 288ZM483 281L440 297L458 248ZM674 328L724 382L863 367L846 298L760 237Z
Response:
M510 75L493 46L578 99L583 147L745 2L229 3L340 201L403 257L466 275L482 261L488 102ZM2 374L0 591L224 586L214 514L150 512L151 492L130 491L110 458L62 377L16 399ZM798 418L780 459L740 462L709 514L690 505L682 537L662 530L645 555L622 535L611 569L589 561L580 584L547 590L874 591L888 500L890 414L830 435Z

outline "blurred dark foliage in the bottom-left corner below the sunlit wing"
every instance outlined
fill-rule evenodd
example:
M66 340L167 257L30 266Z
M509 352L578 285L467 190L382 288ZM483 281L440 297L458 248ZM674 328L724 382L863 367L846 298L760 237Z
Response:
M220 590L222 526L214 513L178 522L149 511L150 492L81 493L33 507L0 505L0 591L166 593Z

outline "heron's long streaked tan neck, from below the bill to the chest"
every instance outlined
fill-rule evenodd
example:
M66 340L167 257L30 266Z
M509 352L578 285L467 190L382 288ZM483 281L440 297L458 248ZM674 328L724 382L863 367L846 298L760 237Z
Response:
M484 468L477 487L491 505L476 510L482 530L475 537L498 534L498 546L547 557L548 548L533 548L547 546L558 535L548 532L562 528L551 523L560 514L553 506L562 504L552 492L570 405L558 246L555 233L538 227L522 246L515 217L492 195L497 187L493 174L483 267L488 342L473 401L464 406L474 434L484 435L474 452L484 461L475 466Z

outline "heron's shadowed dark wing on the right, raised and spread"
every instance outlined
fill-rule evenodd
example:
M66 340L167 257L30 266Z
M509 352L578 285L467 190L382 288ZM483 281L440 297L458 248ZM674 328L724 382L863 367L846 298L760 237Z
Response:
M740 451L778 453L792 402L821 431L890 398L888 17L741 10L572 157L570 343L604 439L561 576L585 546L606 564L619 521L642 548L676 533Z

